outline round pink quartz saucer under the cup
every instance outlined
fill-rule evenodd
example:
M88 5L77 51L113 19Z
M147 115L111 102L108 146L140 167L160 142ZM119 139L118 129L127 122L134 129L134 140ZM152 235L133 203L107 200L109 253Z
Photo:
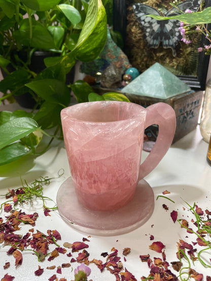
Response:
M154 192L144 180L137 184L133 199L114 211L92 211L78 202L72 178L60 186L56 202L60 216L76 230L96 235L116 235L143 225L154 210Z

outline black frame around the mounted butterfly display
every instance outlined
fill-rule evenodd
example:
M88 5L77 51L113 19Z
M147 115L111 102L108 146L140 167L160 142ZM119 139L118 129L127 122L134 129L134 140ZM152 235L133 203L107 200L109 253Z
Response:
M211 6L211 0L206 1L206 7ZM123 42L126 39L126 26L127 26L127 7L126 0L113 0L113 24L114 30L121 33ZM211 29L211 24L208 24L208 29ZM201 38L201 46L207 44L205 36ZM196 91L203 91L206 84L206 75L209 65L209 56L205 55L204 52L199 53L197 76L191 75L178 75L178 77L185 82L191 89Z

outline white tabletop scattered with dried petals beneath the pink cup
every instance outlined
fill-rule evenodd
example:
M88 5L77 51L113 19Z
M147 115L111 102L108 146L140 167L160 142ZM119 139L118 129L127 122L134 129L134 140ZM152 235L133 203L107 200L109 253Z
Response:
M188 211L184 201L191 206L195 202L203 211L206 209L211 211L211 167L206 163L207 148L208 144L202 140L199 128L171 145L156 169L145 178L153 188L155 194L154 212L143 226L129 233L115 236L103 236L100 233L100 235L91 234L88 237L88 233L84 233L80 229L74 229L69 223L63 220L58 211L50 212L51 216L44 216L41 200L34 200L32 204L18 206L18 208L27 214L38 212L39 217L34 226L35 232L36 230L40 230L43 233L47 233L48 229L58 230L61 234L61 240L58 240L57 243L61 247L63 247L62 245L65 242L72 244L76 241L82 242L83 237L89 239L90 242L85 242L89 245L89 248L86 249L90 254L89 261L100 259L104 263L106 258L102 257L101 253L108 252L110 254L114 247L118 250L117 256L121 257L123 271L126 268L137 280L140 280L141 276L145 275L147 277L150 274L150 268L146 262L140 261L139 255L150 254L152 260L154 260L154 257L162 258L161 253L157 253L149 248L153 242L162 242L165 245L166 261L170 264L170 262L178 261L176 253L178 251L177 242L180 239L188 243L196 241L197 237L195 234L187 233L186 229L181 228L179 222L176 221L173 223L170 213L173 210L177 211L178 219L187 219L191 226L193 215ZM148 152L143 151L142 157L146 158L147 155ZM20 177L30 183L40 176L57 177L58 170L61 168L64 169L63 176L52 180L49 185L44 186L44 195L56 200L59 187L70 176L63 142L52 143L52 147L45 154L37 158L28 156L19 160L16 164L0 167L0 193L5 194L8 188L20 187ZM157 196L163 195L162 192L165 190L168 190L170 193L164 196L173 200L174 203L164 197L159 197L156 200ZM4 203L5 200L5 197L1 197L0 203ZM164 210L162 207L163 204L167 205L169 209ZM3 211L0 217L4 218L5 221L6 215L8 213L4 213ZM32 228L31 225L24 225L23 223L20 226L21 229L16 231L16 234L25 235L28 229ZM150 235L154 236L154 240L150 240ZM55 245L51 245L50 250L55 249L55 247ZM0 244L0 279L8 273L9 275L15 276L15 280L48 280L53 274L57 275L58 280L61 277L65 277L67 280L73 280L74 269L79 265L76 262L71 263L71 267L61 268L62 274L59 274L56 273L57 266L61 266L63 263L70 263L72 257L67 257L66 254L59 254L53 261L48 261L48 258L46 258L45 261L38 262L37 257L32 255L30 251L23 251L22 265L16 267L13 255L7 255L9 248L9 246L3 247ZM122 254L124 248L131 249L130 253L125 256L126 260L124 260ZM203 247L195 245L194 248L200 251ZM71 249L67 249L66 253L69 252L71 252ZM196 253L195 255L197 256ZM203 255L203 257L206 263L211 266L209 260L211 251L209 250L207 253L208 256ZM73 253L73 257L77 257L78 254L77 252ZM4 269L3 266L8 261L10 262L10 267ZM185 260L182 259L182 261L186 265ZM44 268L41 276L34 275L34 271L38 269L38 265ZM56 265L56 268L46 269L47 266L52 265ZM111 274L106 268L103 272L100 272L95 264L91 263L89 266L91 268L91 274L88 280L116 280L115 275ZM211 275L211 269L202 266L198 260L194 262L194 265L191 261L191 268L204 274L204 280L206 279L206 275ZM175 275L179 275L177 271L172 269L171 264L169 269Z

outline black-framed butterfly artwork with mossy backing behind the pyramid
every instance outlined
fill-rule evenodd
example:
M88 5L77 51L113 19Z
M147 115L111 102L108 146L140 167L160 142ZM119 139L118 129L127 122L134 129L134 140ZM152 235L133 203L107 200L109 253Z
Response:
M146 17L149 14L173 16L179 14L178 10L187 9L197 12L200 0L181 0L178 8L170 3L170 0L113 0L114 30L121 33L123 51L140 73L159 62L191 89L204 90L209 56L198 53L197 49L206 44L205 36L193 32L191 44L185 44L181 41L180 21ZM211 0L206 0L204 7L209 6Z

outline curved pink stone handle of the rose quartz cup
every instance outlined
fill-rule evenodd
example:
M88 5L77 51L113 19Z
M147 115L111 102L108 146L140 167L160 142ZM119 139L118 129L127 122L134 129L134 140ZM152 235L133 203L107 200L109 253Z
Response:
M145 129L157 124L159 131L153 149L139 167L138 181L146 177L163 158L171 145L176 127L175 112L170 105L159 102L148 106L146 110Z

